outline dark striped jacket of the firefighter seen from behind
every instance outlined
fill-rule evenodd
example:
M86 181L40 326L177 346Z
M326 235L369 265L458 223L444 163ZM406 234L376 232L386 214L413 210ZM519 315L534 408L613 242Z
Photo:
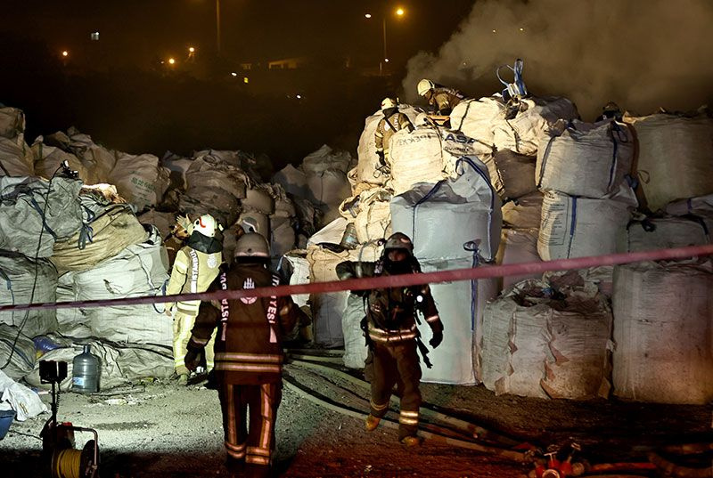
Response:
M210 290L277 286L280 278L259 263L237 263L220 271ZM201 304L188 348L202 350L217 328L215 372L218 383L258 385L281 380L283 335L298 320L291 296L223 299L220 309Z

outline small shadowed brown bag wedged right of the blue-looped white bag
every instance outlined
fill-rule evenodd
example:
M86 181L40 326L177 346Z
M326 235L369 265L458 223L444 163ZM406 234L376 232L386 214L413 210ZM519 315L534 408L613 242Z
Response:
M501 199L520 198L535 190L535 158L511 150L498 150L493 155L483 155L490 180Z

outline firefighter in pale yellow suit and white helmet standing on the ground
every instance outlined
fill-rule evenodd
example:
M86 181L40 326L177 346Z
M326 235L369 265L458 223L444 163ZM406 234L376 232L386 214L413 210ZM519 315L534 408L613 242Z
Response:
M168 296L205 292L216 279L223 262L223 244L216 239L216 232L222 228L216 219L212 215L201 215L192 226L193 231L185 246L176 253L166 288ZM200 305L200 300L181 301L168 304L166 308L166 313L173 316L174 369L181 385L188 382L189 371L184 365L186 344L191 337L191 328ZM213 369L212 352L206 354L206 368L209 371Z

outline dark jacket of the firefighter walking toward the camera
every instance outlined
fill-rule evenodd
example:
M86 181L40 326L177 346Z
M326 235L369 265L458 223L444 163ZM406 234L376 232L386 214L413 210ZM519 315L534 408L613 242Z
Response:
M418 271L415 263L412 272ZM361 272L356 273L360 265ZM390 275L383 267L383 262L356 263L346 261L337 265L340 279L356 277L376 277ZM419 336L416 327L416 310L420 310L434 334L443 332L443 323L438 317L438 310L430 295L429 286L410 286L398 288L375 288L358 291L365 296L366 322L368 338L377 344L403 344L415 341Z

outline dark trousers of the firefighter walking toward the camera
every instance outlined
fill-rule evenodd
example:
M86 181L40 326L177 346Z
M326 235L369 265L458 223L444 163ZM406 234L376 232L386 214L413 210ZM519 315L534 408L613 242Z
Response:
M421 365L414 340L397 344L373 343L373 379L371 414L383 417L389 409L394 385L401 399L398 416L398 439L415 436L418 409L421 406Z

